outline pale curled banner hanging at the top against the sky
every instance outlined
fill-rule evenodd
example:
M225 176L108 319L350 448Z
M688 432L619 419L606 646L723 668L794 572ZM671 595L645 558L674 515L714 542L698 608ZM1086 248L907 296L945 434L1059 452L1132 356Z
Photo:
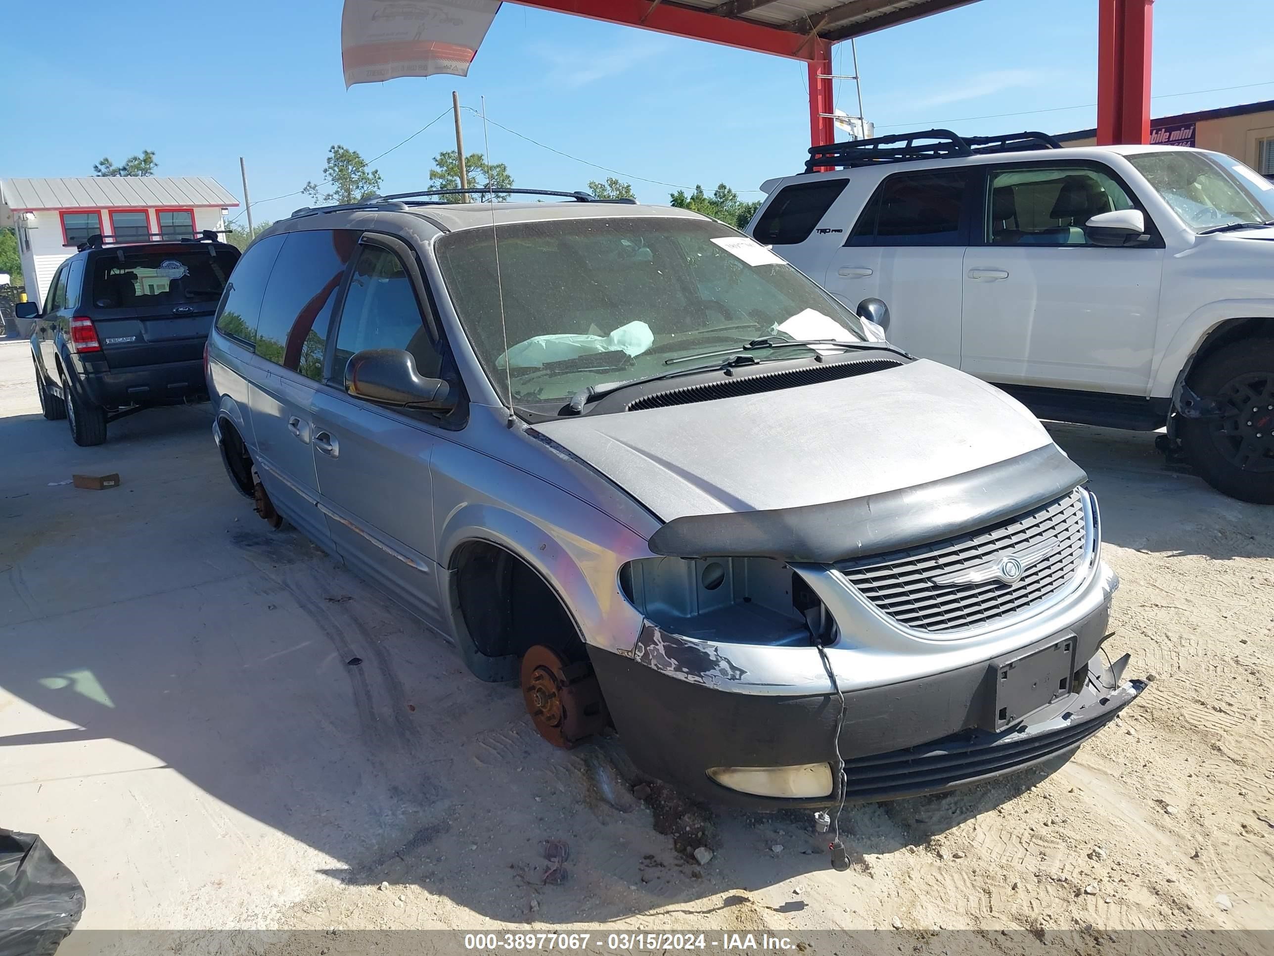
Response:
M465 76L499 0L345 0L345 88L396 76Z

